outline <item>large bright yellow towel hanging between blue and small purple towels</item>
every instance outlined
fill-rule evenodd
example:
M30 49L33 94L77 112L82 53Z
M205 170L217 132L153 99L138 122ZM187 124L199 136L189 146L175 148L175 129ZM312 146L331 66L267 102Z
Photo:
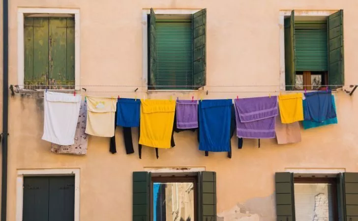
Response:
M141 100L140 144L170 148L175 104L175 101Z

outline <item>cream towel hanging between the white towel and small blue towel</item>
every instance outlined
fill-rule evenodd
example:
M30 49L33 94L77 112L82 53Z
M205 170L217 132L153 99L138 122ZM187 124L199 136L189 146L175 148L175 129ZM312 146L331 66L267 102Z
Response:
M115 136L117 98L87 96L86 134L111 138Z

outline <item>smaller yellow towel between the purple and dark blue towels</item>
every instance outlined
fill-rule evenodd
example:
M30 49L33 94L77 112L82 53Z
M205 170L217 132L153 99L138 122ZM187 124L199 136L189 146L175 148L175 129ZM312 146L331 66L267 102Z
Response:
M280 116L283 124L303 120L302 94L287 94L278 96Z

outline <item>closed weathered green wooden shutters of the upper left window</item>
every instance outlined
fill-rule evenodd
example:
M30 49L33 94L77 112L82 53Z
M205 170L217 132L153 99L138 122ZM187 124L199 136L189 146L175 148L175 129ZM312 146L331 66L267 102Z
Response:
M74 89L74 15L25 15L24 73L24 89Z

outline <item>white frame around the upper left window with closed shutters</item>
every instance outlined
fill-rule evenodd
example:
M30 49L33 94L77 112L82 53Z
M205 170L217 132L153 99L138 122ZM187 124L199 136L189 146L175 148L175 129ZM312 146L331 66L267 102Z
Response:
M25 45L24 45L24 14L73 14L75 16L75 89L79 90L80 83L80 10L72 8L18 8L17 10L17 83L24 88L25 80Z

